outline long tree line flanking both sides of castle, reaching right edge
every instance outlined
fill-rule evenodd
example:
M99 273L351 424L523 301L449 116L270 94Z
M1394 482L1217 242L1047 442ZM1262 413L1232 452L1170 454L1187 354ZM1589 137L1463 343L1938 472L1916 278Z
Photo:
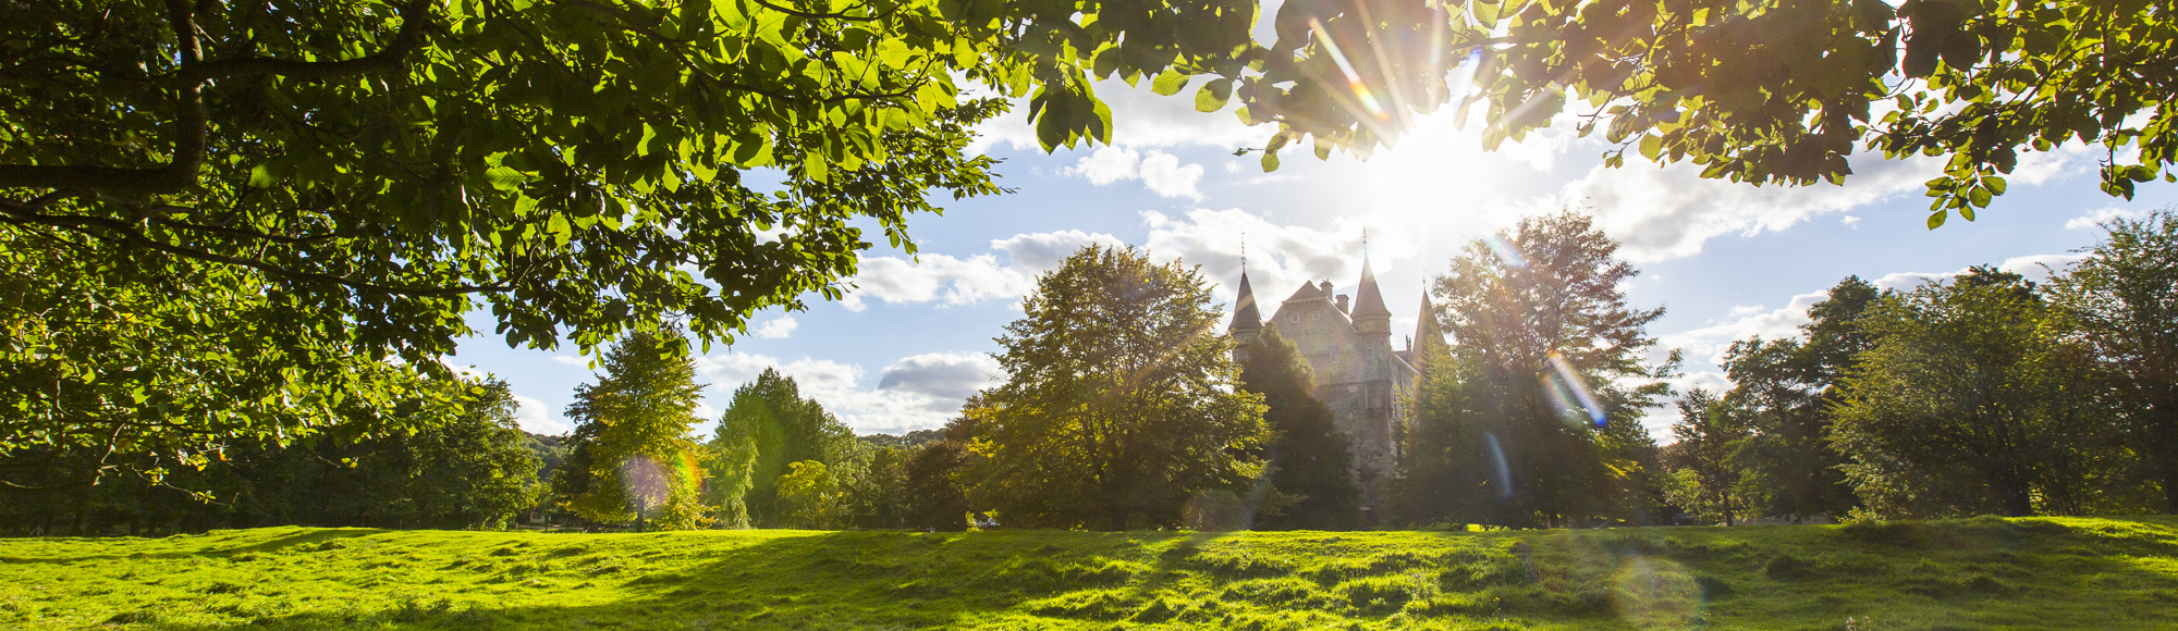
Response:
M1453 259L1433 316L1457 344L1420 346L1400 474L1376 524L2171 509L2169 211L2110 224L2047 287L1993 268L1910 292L1845 279L1801 337L1732 344L1732 389L1677 394L1668 446L1638 420L1673 400L1679 359L1644 359L1664 311L1627 305L1620 287L1638 270L1616 248L1590 218L1555 213ZM1370 527L1309 366L1274 326L1246 363L1231 361L1209 300L1180 263L1085 248L1039 279L998 337L1006 381L913 442L856 440L764 372L699 446L682 437L693 368L671 359L666 381L682 385L658 392L682 398L645 400L680 400L669 416L682 422L649 433L658 450L640 459L701 461L686 470L708 477L656 498L614 496L636 481L579 496L564 474L560 487L575 507L616 507L586 511L597 520L703 505L693 520L660 514L673 527ZM625 348L653 346L625 344L608 368L632 366ZM586 389L573 413L603 411L605 389ZM601 457L643 444L612 426L577 431L571 461L590 461L595 479L640 474L625 453Z

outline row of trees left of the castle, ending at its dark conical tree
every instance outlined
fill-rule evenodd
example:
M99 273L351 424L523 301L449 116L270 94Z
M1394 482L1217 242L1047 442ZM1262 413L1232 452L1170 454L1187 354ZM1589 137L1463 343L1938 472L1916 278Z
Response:
M1235 366L1194 270L1091 246L1024 307L1000 337L1008 381L908 437L856 440L764 370L699 444L686 342L634 337L577 392L553 492L590 522L660 529L1355 524L1307 363L1272 331Z

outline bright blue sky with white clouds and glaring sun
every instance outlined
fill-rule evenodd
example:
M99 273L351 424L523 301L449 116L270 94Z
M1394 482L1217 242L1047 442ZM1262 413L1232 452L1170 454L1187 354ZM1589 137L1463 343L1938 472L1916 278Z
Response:
M960 400L1004 379L989 352L1035 276L1085 244L1139 246L1159 261L1200 265L1231 307L1246 239L1248 276L1259 300L1276 302L1302 281L1331 281L1353 294L1363 259L1374 265L1394 333L1414 331L1422 285L1477 237L1522 215L1577 209L1618 239L1620 257L1642 272L1625 285L1634 307L1664 307L1649 333L1686 355L1677 387L1729 387L1716 366L1732 339L1788 337L1806 309L1845 276L1910 289L1969 265L1999 265L2041 279L2102 237L2097 222L2141 215L2178 200L2178 185L2141 185L2134 200L2095 187L2100 152L2078 146L2030 154L2008 176L1978 222L1951 218L1930 231L1923 181L1934 159L1851 159L1845 185L1753 187L1699 178L1688 163L1657 168L1629 157L1603 168L1601 139L1551 128L1483 152L1477 126L1461 133L1448 115L1422 117L1392 150L1368 161L1307 150L1281 154L1265 174L1257 157L1272 128L1244 126L1231 109L1194 111L1191 87L1172 98L1104 83L1113 109L1111 146L1045 154L1024 120L1026 107L980 126L974 150L1002 159L1000 185L1015 194L950 200L943 215L915 215L910 257L884 246L873 224L854 292L808 309L762 311L745 335L695 357L706 383L710 424L734 387L764 368L795 376L856 433L904 433L945 424ZM1268 316L1268 311L1265 311ZM505 379L534 433L566 433L562 416L582 383L595 383L592 357L507 348L490 335L488 311L470 324L446 361ZM1400 337L1394 337L1400 344ZM1668 442L1668 407L1642 422Z

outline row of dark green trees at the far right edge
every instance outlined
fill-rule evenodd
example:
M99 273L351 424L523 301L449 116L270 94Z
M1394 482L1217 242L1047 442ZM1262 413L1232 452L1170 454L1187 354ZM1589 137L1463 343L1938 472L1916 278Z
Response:
M1845 279L1806 339L1736 342L1734 387L1679 398L1675 496L1721 522L2178 511L2178 220L2106 228L2047 285Z

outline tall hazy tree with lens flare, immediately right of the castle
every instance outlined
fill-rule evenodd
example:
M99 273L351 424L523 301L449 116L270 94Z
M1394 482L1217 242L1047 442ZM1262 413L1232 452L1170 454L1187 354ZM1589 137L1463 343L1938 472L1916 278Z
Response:
M1475 239L1435 279L1457 344L1416 394L1409 520L1505 527L1647 520L1655 442L1638 411L1677 366L1647 366L1647 324L1620 283L1638 274L1592 220L1562 211Z

